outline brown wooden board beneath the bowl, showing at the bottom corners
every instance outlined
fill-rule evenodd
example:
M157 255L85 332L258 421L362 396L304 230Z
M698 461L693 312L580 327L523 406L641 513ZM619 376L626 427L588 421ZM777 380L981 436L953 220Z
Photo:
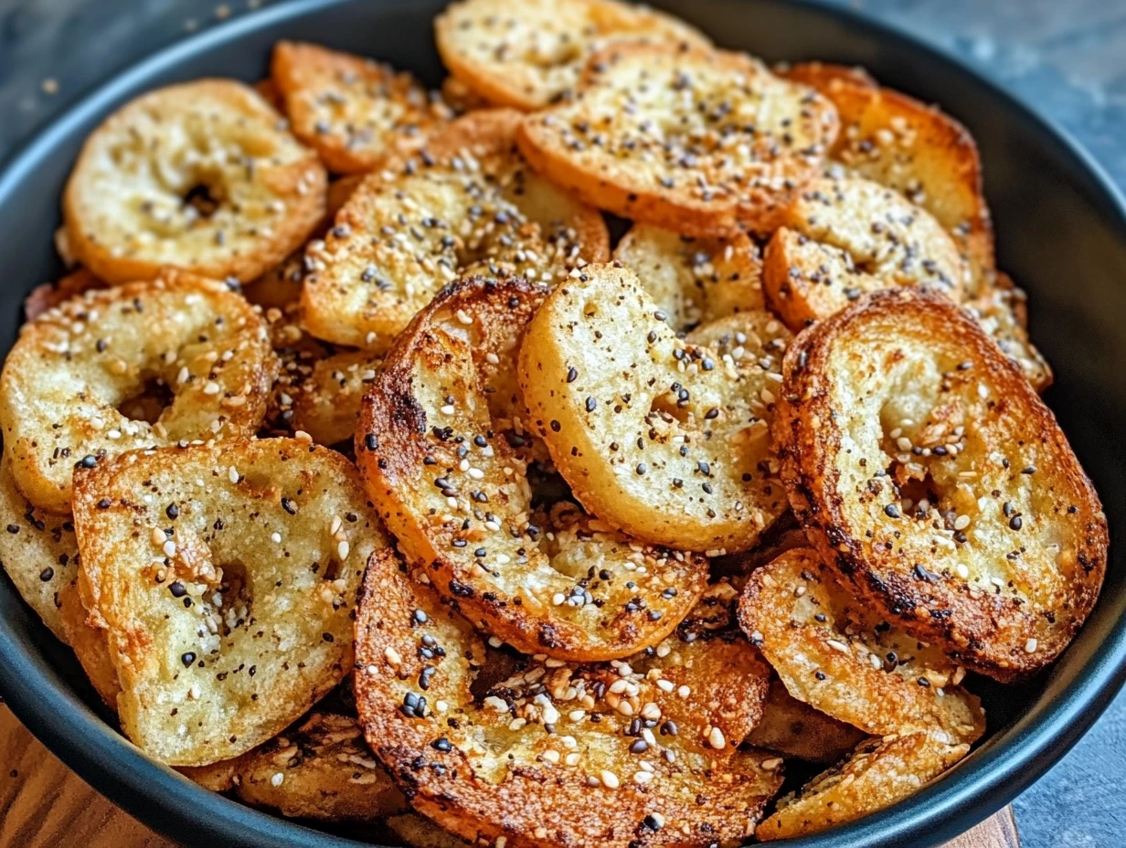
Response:
M110 804L0 705L0 848L172 848ZM1020 848L1006 807L946 848Z

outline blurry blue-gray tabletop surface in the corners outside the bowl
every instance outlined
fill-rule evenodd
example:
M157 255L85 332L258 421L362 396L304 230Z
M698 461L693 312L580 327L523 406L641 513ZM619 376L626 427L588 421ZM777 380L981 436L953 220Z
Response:
M1126 188L1126 0L851 5L954 51L1016 91L1071 131ZM256 6L0 0L0 157L96 82L89 69L98 68L100 79ZM1126 694L1016 807L1026 848L1126 846Z

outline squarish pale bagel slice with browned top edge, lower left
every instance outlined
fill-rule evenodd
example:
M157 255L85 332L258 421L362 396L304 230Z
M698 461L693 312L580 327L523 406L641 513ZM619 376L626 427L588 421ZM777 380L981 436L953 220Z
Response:
M122 726L162 762L236 757L351 669L364 564L387 541L339 454L300 439L133 452L78 475L74 516Z

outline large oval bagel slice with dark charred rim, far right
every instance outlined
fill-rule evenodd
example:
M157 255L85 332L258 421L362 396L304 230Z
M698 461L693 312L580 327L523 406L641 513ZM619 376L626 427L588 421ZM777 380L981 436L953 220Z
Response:
M964 311L869 295L787 352L774 420L790 503L884 615L1011 679L1098 596L1107 520L1055 417Z

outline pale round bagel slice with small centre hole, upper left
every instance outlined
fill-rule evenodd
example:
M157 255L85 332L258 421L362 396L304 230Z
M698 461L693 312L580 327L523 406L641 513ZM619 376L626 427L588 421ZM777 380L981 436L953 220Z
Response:
M162 267L245 282L305 241L325 181L258 92L199 80L109 116L82 146L63 215L75 257L108 283Z

